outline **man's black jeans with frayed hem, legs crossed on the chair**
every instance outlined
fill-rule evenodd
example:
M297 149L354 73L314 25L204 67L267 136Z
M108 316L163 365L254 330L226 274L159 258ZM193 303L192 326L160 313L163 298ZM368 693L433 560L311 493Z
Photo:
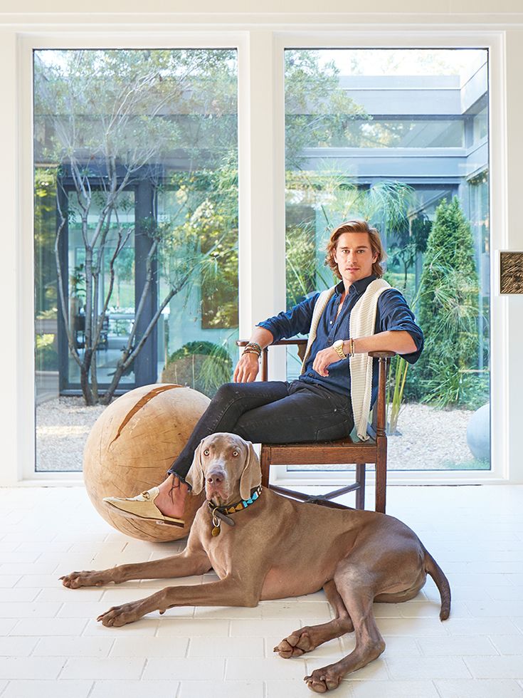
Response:
M216 432L232 432L255 444L285 444L341 439L352 427L349 395L301 380L225 383L168 472L183 480L201 439Z

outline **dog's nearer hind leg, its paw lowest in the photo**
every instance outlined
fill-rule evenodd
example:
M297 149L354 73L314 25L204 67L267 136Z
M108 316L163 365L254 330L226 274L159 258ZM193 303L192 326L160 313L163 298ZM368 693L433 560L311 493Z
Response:
M372 575L345 562L334 574L334 583L354 624L356 647L339 662L317 669L310 676L305 677L307 687L316 693L337 688L345 674L366 666L379 657L385 649L384 639L381 637L372 611L374 600Z

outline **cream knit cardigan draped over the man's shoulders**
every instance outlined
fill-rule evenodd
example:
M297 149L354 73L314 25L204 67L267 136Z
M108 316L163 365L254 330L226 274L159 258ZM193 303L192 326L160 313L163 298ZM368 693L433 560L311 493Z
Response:
M351 311L349 334L352 338L357 339L358 337L368 337L374 334L376 313L378 312L378 298L387 288L391 288L391 285L384 278L375 278L374 281L369 283L366 291L361 295L361 298L359 298ZM322 291L315 303L310 323L309 339L307 340L307 348L305 349L305 357L302 363L302 373L305 373L305 363L307 363L309 358L312 343L316 339L319 318L321 318L323 311L327 308L327 303L334 296L335 290L336 286L332 286L332 288L327 288L327 291ZM358 438L366 441L369 438L367 424L371 410L372 358L369 354L355 354L349 358L349 370L351 374L351 401L354 426L356 427Z

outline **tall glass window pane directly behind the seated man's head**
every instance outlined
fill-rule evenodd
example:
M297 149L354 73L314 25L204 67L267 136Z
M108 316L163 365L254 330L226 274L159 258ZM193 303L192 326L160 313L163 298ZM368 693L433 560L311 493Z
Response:
M285 51L287 306L338 281L329 232L364 218L425 333L416 365L391 365L391 469L490 468L487 58Z

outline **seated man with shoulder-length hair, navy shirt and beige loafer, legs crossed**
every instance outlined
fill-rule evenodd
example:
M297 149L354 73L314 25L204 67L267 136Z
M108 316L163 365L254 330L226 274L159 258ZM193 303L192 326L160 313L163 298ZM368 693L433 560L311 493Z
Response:
M377 365L369 351L395 351L418 360L423 333L405 298L384 279L379 233L364 221L337 226L326 263L341 281L286 313L259 323L233 375L216 393L162 484L130 499L107 497L127 516L183 525L185 476L201 439L233 432L251 442L341 439L354 426L366 438L376 399ZM302 375L292 382L255 382L263 348L309 334ZM374 362L376 363L376 362Z

